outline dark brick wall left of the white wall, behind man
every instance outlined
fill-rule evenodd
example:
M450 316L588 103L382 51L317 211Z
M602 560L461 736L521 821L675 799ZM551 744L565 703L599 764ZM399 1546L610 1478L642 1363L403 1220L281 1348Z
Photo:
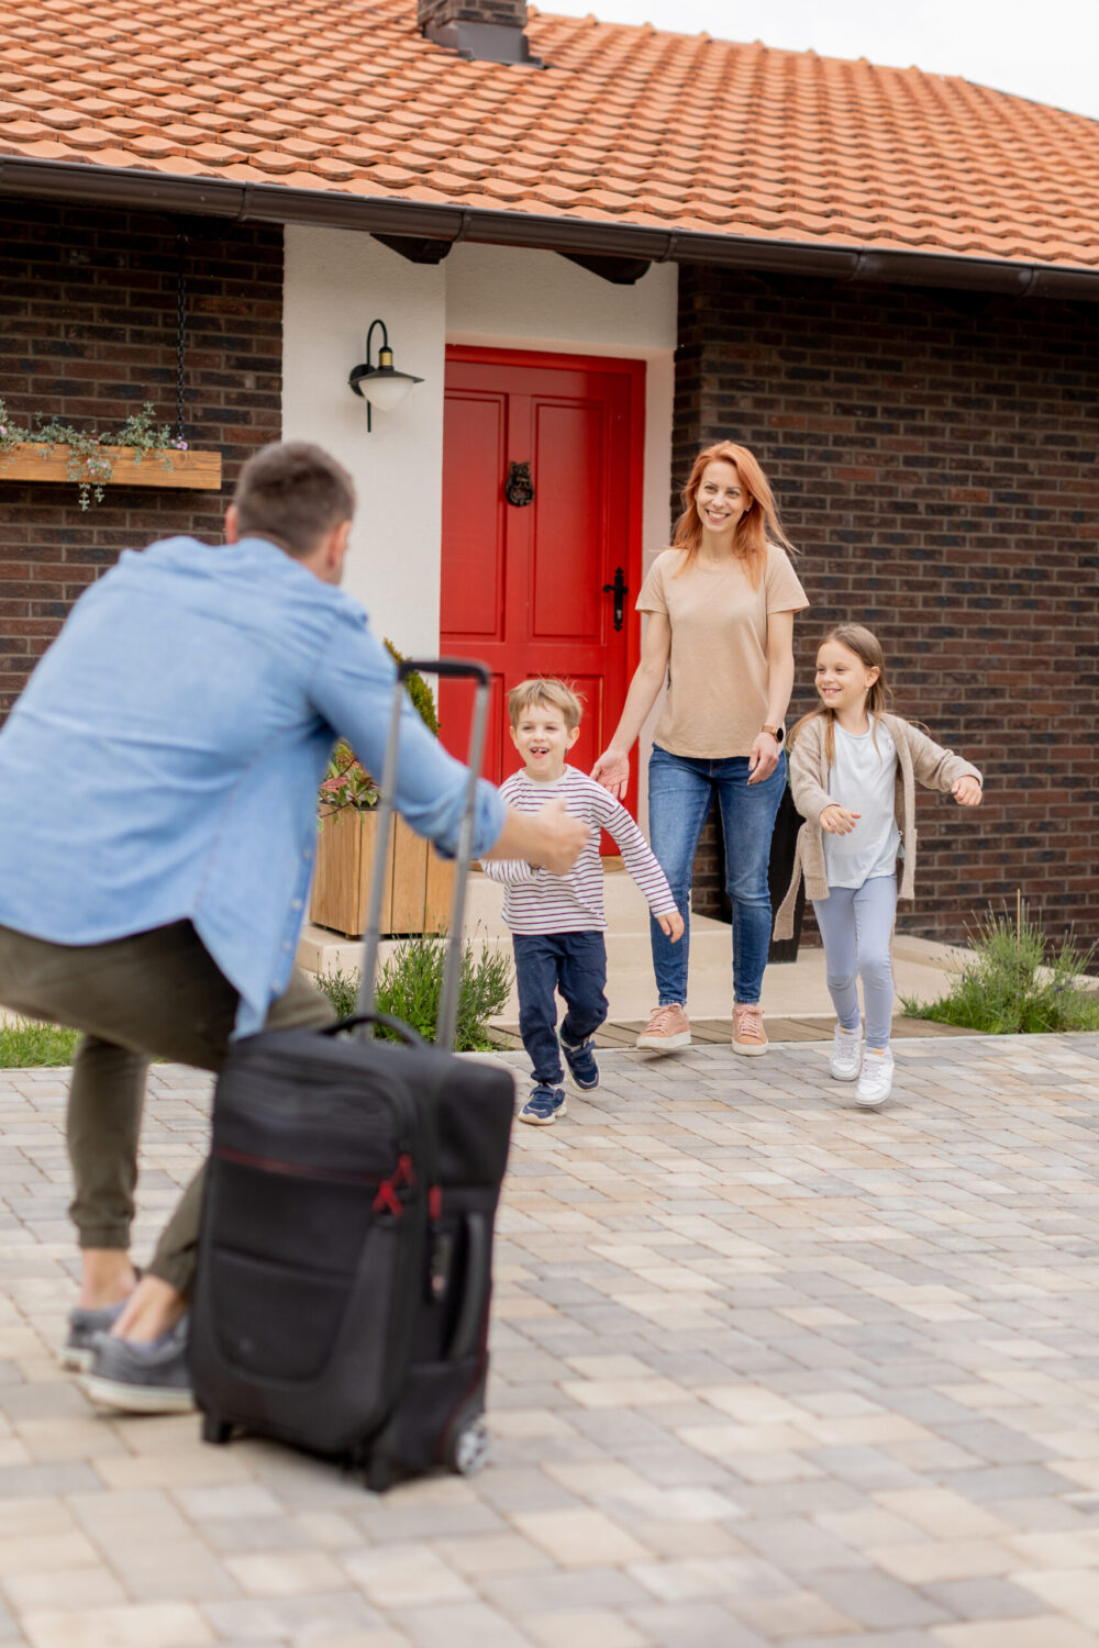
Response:
M282 425L282 231L0 203L0 397L92 433L152 400L175 425L176 229L188 244L186 440L222 453L222 491L76 486L0 471L0 717L66 611L127 545L216 539L249 453Z

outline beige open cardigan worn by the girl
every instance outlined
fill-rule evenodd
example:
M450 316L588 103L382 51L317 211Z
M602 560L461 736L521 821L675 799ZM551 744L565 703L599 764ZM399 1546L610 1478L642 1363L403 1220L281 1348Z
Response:
M905 870L900 898L911 898L916 882L916 783L926 789L952 789L967 773L982 783L980 771L952 750L928 738L911 722L898 715L880 715L878 720L893 733L896 745L896 822L905 847ZM821 814L832 806L829 796L829 770L824 755L824 715L816 715L797 733L789 751L789 788L794 806L804 817L797 831L797 854L789 892L774 918L774 938L793 938L794 901L797 883L804 873L806 898L827 898L829 883L824 870L824 831Z

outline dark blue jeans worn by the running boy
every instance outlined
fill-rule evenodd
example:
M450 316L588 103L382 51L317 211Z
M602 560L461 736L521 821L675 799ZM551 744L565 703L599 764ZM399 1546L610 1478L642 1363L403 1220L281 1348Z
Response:
M606 1018L606 944L595 933L512 933L519 987L519 1035L534 1065L535 1083L560 1088L565 1073L557 1045L560 990L568 1012L560 1027L577 1046Z

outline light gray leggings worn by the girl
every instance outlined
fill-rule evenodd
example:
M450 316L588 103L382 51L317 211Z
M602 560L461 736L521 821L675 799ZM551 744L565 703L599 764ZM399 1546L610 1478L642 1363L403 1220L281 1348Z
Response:
M893 1023L890 938L896 915L896 877L875 875L862 887L829 887L812 908L824 939L829 995L844 1030L858 1028L857 976L867 1007L867 1046L886 1048Z

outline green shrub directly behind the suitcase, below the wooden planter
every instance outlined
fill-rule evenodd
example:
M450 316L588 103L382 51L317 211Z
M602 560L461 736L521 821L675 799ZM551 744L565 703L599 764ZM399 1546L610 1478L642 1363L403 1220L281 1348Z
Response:
M422 933L402 939L389 959L382 962L377 977L377 1010L404 1018L423 1037L435 1040L438 997L443 987L443 957L447 944L435 933ZM346 1018L354 1012L362 974L326 972L318 976L316 987ZM455 1046L460 1053L484 1053L496 1043L488 1020L503 1010L511 992L511 957L506 951L491 951L488 944L475 954L473 944L461 946L461 984L458 989L458 1025ZM379 1030L379 1040L395 1040L390 1032Z

